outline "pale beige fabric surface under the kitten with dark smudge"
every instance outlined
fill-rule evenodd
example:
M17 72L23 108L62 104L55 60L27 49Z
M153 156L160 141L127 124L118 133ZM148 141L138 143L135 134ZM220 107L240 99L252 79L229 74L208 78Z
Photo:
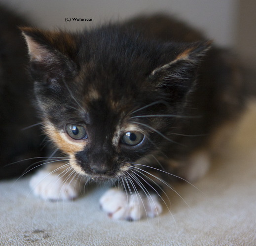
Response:
M0 183L1 246L256 246L256 103L210 172L194 184L203 193L175 186L186 205L168 191L172 215L165 209L154 219L115 221L99 209L107 187L54 203L34 197L28 181Z

